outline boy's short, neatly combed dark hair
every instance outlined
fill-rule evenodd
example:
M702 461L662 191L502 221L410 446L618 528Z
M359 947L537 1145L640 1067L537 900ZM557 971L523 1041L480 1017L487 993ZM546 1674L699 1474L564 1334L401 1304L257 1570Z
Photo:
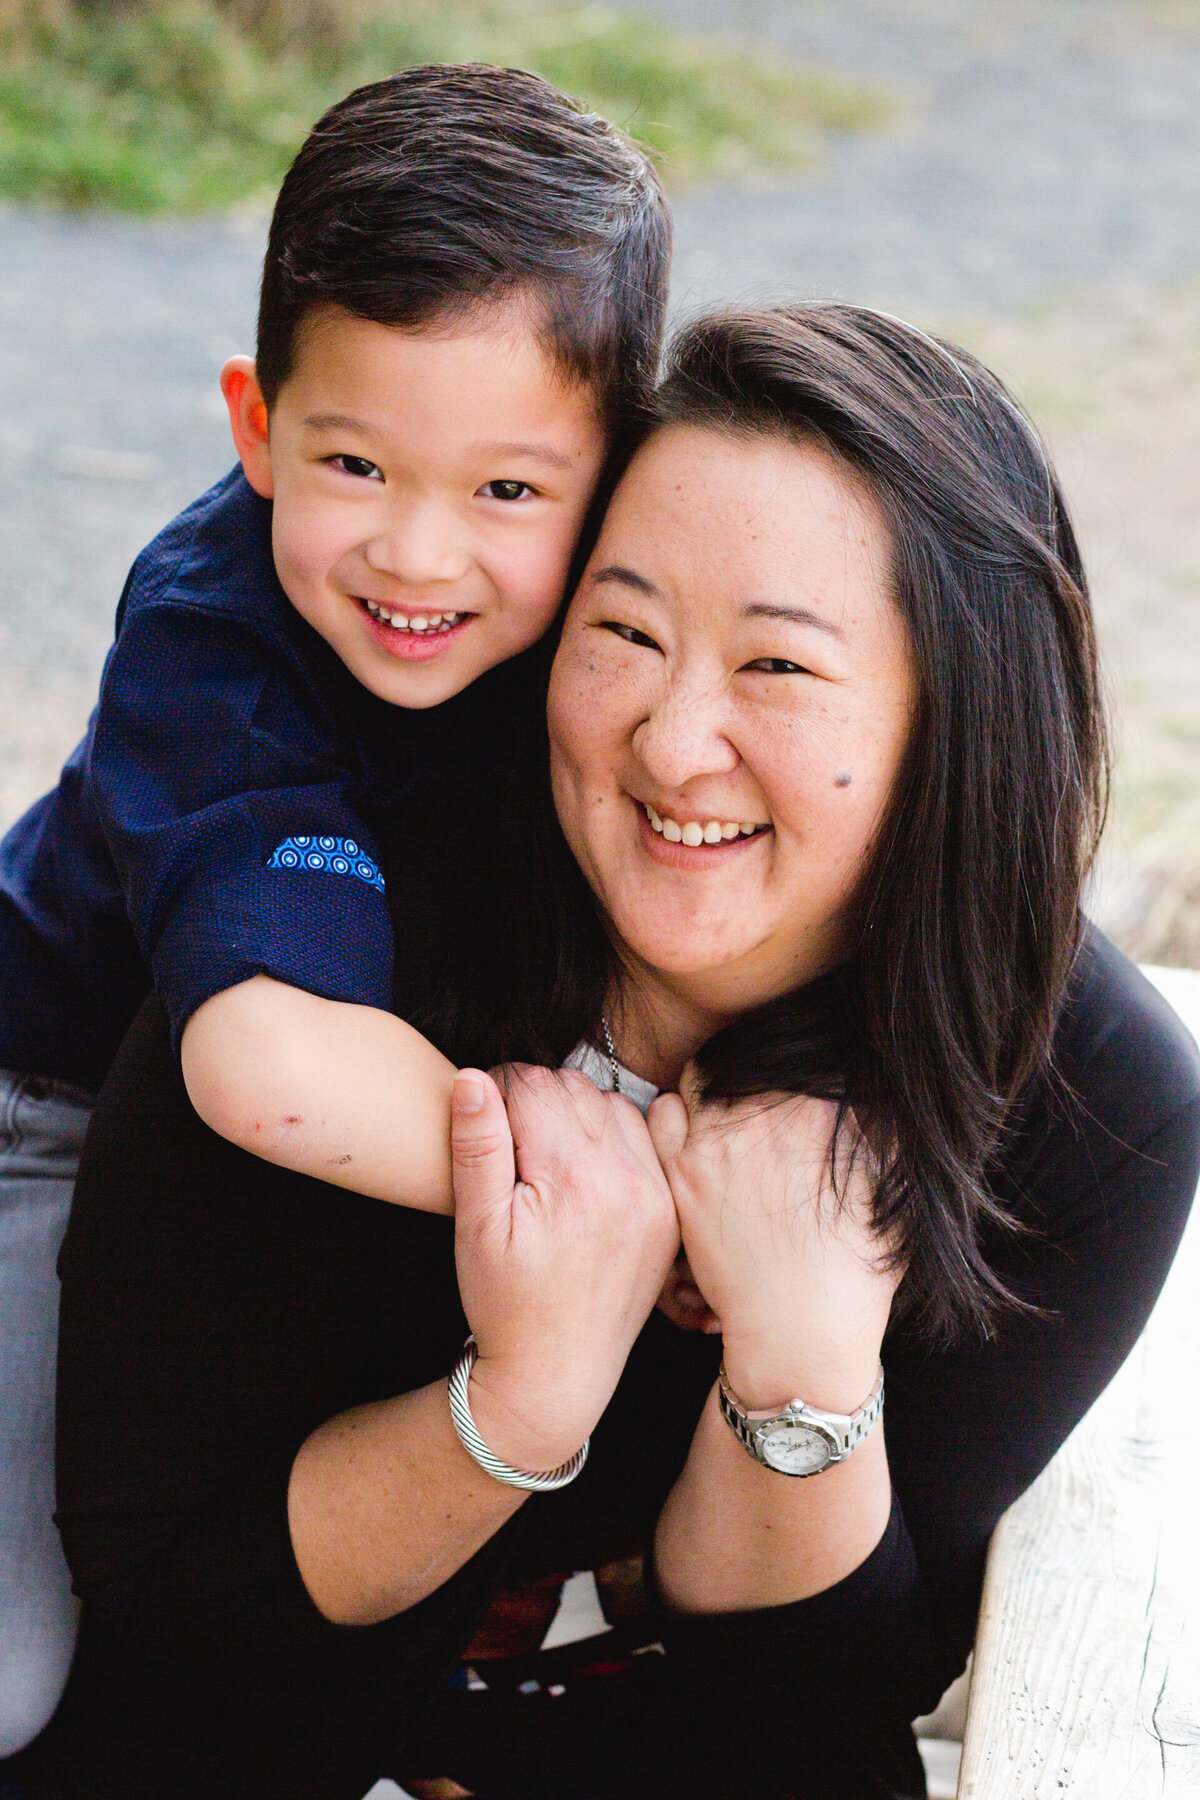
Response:
M669 256L653 164L604 119L520 68L403 68L331 106L288 169L263 263L263 394L272 407L317 308L423 326L522 293L619 428L657 374Z

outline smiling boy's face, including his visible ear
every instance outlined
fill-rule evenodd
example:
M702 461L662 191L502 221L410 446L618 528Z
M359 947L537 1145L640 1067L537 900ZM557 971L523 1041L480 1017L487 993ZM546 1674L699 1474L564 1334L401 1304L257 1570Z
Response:
M520 302L398 329L306 320L266 425L254 365L221 385L273 504L288 599L392 706L437 706L551 625L604 457Z

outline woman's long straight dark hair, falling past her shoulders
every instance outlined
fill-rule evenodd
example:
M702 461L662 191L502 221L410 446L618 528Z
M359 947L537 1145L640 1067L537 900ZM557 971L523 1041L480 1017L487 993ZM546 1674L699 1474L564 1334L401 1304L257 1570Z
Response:
M815 439L849 464L891 529L918 671L856 949L711 1039L705 1098L853 1107L880 1170L876 1220L903 1242L901 1310L932 1337L988 1330L1011 1296L981 1247L1006 1222L986 1168L1049 1062L1106 792L1087 580L1058 482L973 356L851 306L694 320L671 346L657 423ZM423 1021L452 1055L558 1062L596 1035L613 956L552 819L540 725L502 788L455 855L455 952Z

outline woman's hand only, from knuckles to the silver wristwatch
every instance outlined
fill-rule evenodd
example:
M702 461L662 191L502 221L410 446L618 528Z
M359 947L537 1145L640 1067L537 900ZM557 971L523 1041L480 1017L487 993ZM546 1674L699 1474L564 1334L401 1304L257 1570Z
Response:
M903 1271L873 1231L871 1159L853 1130L835 1188L835 1118L804 1096L700 1107L689 1076L684 1098L662 1094L649 1112L691 1278L750 1408L801 1395L853 1411L874 1384Z

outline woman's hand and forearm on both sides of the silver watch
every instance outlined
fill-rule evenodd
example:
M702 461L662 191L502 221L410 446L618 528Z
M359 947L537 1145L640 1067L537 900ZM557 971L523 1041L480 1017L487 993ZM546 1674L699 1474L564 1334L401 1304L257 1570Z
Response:
M835 1184L835 1107L804 1098L702 1107L689 1073L682 1085L684 1098L655 1100L649 1132L687 1267L720 1319L734 1393L750 1409L802 1399L855 1411L874 1386L900 1278L871 1229L865 1147L853 1138L838 1147ZM676 1276L676 1303L680 1287L687 1298ZM790 1481L747 1456L709 1393L658 1517L658 1588L682 1613L802 1600L865 1561L889 1510L882 1431L815 1480Z

